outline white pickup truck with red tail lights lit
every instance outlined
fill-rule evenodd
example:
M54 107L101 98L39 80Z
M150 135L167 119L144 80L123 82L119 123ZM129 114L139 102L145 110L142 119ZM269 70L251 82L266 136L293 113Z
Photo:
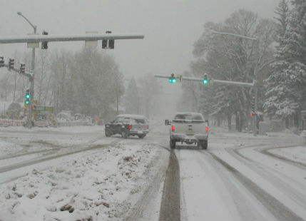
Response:
M174 149L176 142L198 144L198 147L208 147L208 120L201 113L176 113L172 121L165 120L170 127L170 148Z

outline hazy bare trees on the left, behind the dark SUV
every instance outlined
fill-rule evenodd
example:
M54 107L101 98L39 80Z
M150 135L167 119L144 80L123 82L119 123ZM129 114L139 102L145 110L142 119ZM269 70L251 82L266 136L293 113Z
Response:
M31 67L31 53L15 54L15 66ZM29 80L8 72L0 81L2 101L23 102ZM71 110L85 115L105 115L116 110L124 93L123 75L112 56L93 48L82 51L36 50L34 100L53 106L56 113Z

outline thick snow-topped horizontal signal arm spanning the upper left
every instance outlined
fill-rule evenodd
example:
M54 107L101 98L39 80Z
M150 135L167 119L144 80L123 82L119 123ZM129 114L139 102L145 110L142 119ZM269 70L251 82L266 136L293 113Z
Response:
M0 37L0 43L39 43L51 41L98 41L119 39L140 39L141 34L78 34L78 35L35 35L19 37Z

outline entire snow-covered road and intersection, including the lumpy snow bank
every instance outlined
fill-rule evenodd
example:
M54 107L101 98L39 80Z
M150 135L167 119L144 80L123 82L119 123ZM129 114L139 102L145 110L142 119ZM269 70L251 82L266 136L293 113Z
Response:
M0 220L306 220L300 141L213 128L208 150L170 151L162 125L0 130Z

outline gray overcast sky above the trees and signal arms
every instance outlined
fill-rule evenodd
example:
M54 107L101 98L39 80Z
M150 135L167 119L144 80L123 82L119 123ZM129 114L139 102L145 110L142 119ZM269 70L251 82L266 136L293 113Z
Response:
M193 43L207 21L223 21L238 9L272 18L279 0L1 0L0 36L20 36L32 31L16 14L49 34L141 33L143 40L116 41L116 58L126 78L144 73L182 73L193 58ZM49 48L80 49L83 43L49 43ZM101 45L99 45L101 47ZM0 55L25 51L25 44L0 45ZM102 50L102 49L101 49Z

